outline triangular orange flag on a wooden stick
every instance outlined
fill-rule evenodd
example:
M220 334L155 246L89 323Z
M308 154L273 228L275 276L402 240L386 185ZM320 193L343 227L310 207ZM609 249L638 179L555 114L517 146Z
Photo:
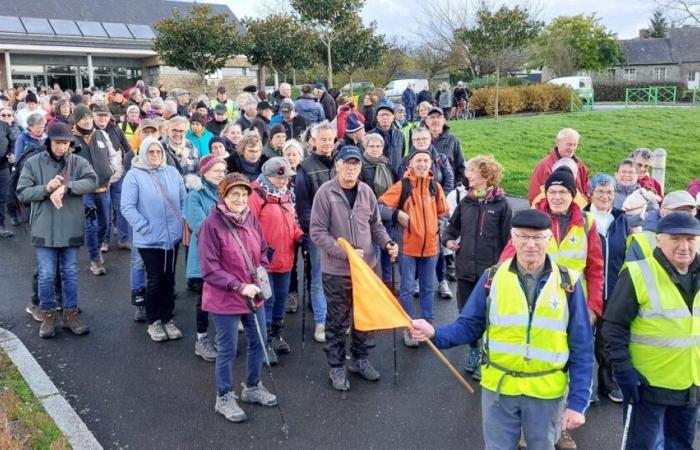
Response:
M411 319L374 270L348 241L338 238L348 254L352 278L353 324L360 331L408 327Z

